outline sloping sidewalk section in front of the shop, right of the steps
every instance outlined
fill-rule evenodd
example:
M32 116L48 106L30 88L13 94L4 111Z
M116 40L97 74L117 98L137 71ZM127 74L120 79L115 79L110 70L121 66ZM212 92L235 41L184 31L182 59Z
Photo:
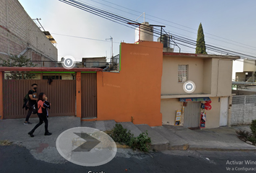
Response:
M223 127L214 129L189 130L188 128L163 125L176 136L189 143L189 150L210 151L256 151L256 147L241 141L235 130L249 130L249 126Z

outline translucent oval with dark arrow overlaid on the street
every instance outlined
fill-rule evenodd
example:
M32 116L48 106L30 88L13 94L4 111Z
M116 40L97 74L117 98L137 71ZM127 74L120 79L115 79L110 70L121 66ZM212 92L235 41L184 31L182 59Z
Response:
M116 143L101 130L78 127L62 132L56 140L59 154L73 164L97 167L116 156Z

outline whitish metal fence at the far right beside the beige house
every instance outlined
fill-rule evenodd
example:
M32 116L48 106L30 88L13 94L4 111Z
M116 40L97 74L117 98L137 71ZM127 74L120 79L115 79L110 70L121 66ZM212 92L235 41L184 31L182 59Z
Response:
M231 125L245 125L256 120L256 95L241 95L232 98Z

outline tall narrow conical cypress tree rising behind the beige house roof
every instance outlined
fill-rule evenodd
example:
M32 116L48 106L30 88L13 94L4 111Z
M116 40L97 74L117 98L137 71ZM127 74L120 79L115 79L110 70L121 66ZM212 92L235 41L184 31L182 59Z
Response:
M205 47L205 35L202 30L202 24L200 23L197 31L197 48L195 48L195 53L207 54Z

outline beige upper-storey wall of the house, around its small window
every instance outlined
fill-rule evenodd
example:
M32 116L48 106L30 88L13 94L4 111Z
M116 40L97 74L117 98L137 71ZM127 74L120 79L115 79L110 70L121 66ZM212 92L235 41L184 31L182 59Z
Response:
M194 81L195 94L213 97L231 95L232 61L221 58L183 58L163 56L161 94L187 94L178 82L178 66L189 65L188 81Z

